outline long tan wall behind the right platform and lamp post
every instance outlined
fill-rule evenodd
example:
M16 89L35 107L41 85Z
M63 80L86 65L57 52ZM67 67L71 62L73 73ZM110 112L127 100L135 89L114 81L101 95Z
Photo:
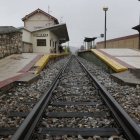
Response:
M131 48L138 49L139 35L129 35L106 41L106 48ZM97 42L96 48L104 48L104 41Z

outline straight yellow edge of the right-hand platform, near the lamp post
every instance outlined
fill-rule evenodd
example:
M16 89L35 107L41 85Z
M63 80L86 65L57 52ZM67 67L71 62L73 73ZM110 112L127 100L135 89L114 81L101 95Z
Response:
M101 60L103 60L108 66L110 66L115 72L122 72L127 70L127 67L124 67L120 63L116 62L115 60L109 58L108 56L104 55L103 53L99 52L96 49L91 49L91 51L98 56Z

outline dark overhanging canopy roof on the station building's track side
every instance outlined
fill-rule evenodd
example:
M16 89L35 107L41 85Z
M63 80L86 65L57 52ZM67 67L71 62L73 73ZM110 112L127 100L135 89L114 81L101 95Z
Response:
M37 29L37 30L34 30L32 32L37 32L37 31L41 31L41 30L45 30L45 29L54 33L59 38L61 43L65 43L65 42L69 41L69 35L68 35L68 31L67 31L67 26L65 23L64 24L56 24L56 25L51 26L51 27Z

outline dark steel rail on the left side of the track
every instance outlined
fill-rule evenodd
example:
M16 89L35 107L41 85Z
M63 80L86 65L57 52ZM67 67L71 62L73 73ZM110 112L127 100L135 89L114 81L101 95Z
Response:
M61 70L59 71L58 75L55 77L48 91L44 93L40 101L33 107L32 111L28 114L28 116L25 118L23 123L17 129L17 131L15 132L11 140L29 140L31 138L32 133L39 119L41 118L45 107L49 104L49 101L52 97L52 92L54 91L55 87L58 85L62 73L66 70L71 60L72 60L72 56L69 58L67 63L61 68Z

